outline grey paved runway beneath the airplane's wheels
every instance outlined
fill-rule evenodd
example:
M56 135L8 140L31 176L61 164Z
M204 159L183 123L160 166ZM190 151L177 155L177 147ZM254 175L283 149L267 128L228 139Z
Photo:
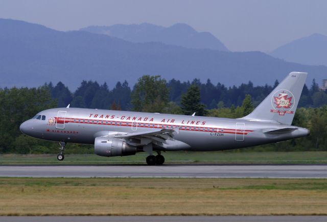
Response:
M327 178L327 165L0 166L4 177Z

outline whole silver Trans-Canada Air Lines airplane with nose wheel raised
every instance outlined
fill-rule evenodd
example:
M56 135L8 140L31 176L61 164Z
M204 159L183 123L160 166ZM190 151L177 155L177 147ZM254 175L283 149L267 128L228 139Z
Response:
M67 143L94 144L103 157L147 152L148 165L164 164L162 152L214 151L275 143L310 134L292 126L307 73L291 72L249 115L239 119L89 108L43 110L20 125L28 136L57 141L57 159ZM154 154L156 152L156 156Z

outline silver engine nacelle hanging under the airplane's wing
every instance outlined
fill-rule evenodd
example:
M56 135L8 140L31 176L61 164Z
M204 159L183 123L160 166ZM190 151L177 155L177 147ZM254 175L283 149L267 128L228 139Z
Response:
M135 155L136 147L128 145L125 140L96 137L94 151L103 157L129 156Z

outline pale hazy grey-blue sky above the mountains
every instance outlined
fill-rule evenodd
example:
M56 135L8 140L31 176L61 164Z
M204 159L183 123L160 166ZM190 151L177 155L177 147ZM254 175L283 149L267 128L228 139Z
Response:
M323 0L0 0L0 17L62 31L90 25L186 23L211 32L231 51L269 52L299 37L327 35Z

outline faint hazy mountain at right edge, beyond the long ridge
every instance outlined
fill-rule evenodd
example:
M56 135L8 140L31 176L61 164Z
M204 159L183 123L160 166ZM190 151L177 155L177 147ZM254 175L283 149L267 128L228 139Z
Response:
M296 39L270 53L290 62L308 65L327 65L327 36L312 34Z

